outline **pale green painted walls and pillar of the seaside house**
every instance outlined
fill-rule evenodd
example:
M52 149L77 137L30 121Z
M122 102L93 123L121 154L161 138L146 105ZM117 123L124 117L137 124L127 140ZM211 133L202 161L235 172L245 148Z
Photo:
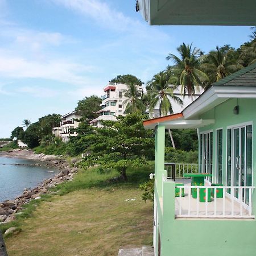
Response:
M233 114L234 106L240 113ZM213 125L205 126L200 132L213 130L213 175L216 169L216 129L223 129L223 174L226 174L226 127L244 122L253 124L253 154L256 152L256 100L232 99L200 116L215 119ZM230 219L175 219L175 183L163 180L164 126L158 126L156 135L155 196L158 211L156 233L160 232L162 256L254 256L256 255L256 221ZM162 156L160 156L160 155ZM159 163L159 161L161 163ZM253 158L253 185L256 157ZM254 192L255 195L255 192ZM161 206L162 205L162 206ZM256 196L253 196L253 212L256 213ZM158 253L156 236L155 254Z

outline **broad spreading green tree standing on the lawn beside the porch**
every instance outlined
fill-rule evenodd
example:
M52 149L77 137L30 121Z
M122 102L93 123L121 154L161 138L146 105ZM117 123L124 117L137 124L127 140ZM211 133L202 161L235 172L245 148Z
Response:
M103 121L103 128L85 137L90 155L82 161L89 167L99 165L114 168L127 180L128 167L137 167L154 158L154 134L142 124L146 115L133 113L118 117L118 121Z

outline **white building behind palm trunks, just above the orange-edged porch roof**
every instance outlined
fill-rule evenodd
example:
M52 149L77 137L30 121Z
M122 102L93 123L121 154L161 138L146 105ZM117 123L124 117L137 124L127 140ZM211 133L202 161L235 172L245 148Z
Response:
M183 106L177 104L177 102L171 100L172 104L172 110L174 113L180 113L183 109L185 109L189 104L191 104L192 101L195 101L203 92L204 90L197 91L195 96L193 98L189 97L188 94L183 95L180 94L180 89L181 85L177 86L177 88L174 90L174 95L179 97L183 101ZM148 114L149 118L156 118L160 117L160 112L159 112L159 107L160 107L160 101L158 104L156 104L155 108L150 110L149 108L146 110L146 113ZM170 113L168 113L170 114Z

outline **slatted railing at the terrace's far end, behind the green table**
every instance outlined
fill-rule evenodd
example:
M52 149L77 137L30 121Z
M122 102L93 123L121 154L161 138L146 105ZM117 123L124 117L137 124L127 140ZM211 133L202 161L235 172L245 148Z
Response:
M184 179L184 173L196 174L199 172L198 164L195 163L164 163L164 167L167 170L167 178Z

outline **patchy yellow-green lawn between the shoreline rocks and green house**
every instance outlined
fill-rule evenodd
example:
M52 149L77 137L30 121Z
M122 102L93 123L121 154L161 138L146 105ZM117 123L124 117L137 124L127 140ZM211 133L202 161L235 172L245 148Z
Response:
M151 245L152 203L138 189L150 171L129 171L130 183L121 184L105 182L113 171L80 172L18 221L22 232L6 238L9 255L117 255L121 246Z

